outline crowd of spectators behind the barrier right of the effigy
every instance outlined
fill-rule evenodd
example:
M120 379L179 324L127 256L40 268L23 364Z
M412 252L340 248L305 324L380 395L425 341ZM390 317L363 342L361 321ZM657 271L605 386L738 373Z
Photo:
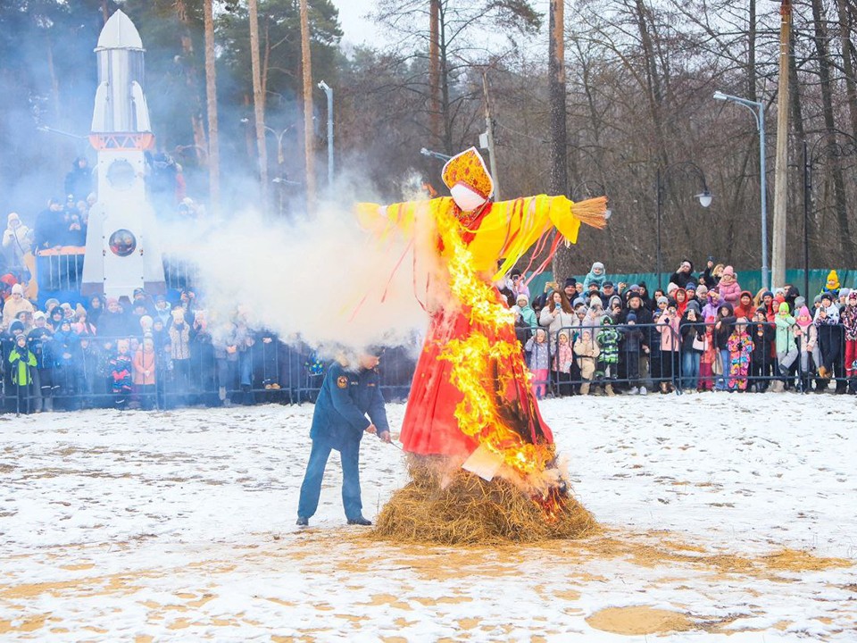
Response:
M809 299L791 284L753 294L711 261L698 274L683 261L653 292L614 284L603 263L537 296L512 272L501 292L537 397L857 391L857 289L841 288L836 271Z

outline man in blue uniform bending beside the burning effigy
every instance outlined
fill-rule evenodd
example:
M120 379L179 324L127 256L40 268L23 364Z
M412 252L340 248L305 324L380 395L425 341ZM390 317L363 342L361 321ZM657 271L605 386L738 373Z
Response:
M297 524L305 526L319 507L321 479L330 450L339 452L342 462L342 504L350 525L370 525L363 517L360 499L360 440L363 433L390 441L390 427L377 370L379 351L367 349L357 367L331 364L321 383L315 412L312 413L312 451L306 464ZM369 418L366 418L366 414Z

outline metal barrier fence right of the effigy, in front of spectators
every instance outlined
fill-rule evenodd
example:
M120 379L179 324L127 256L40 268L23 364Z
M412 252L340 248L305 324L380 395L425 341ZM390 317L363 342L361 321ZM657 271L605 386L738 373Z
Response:
M779 342L774 322L748 322L743 335L734 334L735 326L685 322L678 329L661 323L562 328L549 338L551 346L559 346L564 334L573 357L569 360L563 351L566 359L560 363L553 349L550 377L534 380L534 386L549 387L558 396L592 387L608 394L635 388L764 392L780 386L801 392L824 392L831 386L837 393L857 391L857 341L846 340L841 325L812 325L800 334L793 326L787 333L780 330L785 337Z

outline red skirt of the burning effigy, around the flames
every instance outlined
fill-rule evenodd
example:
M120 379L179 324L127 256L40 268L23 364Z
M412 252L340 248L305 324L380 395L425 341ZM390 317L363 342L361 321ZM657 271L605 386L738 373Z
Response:
M465 435L458 428L455 407L463 395L450 381L453 364L447 359L440 359L451 339L466 338L470 332L483 333L492 343L517 343L511 323L495 332L472 328L460 310L435 313L428 325L428 335L413 375L411 397L404 413L401 440L405 451L419 455L466 457L478 447L478 436ZM514 351L514 355L498 359L494 368L496 371L488 378L488 385L494 389L499 420L517 433L522 442L553 443L553 434L542 419L536 398L527 386L523 354Z

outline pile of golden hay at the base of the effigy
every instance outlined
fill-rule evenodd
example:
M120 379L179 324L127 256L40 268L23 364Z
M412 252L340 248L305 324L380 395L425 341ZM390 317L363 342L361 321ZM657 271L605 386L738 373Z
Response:
M553 517L507 480L490 482L462 469L412 462L411 482L378 517L375 535L397 542L487 545L578 539L598 530L595 518L568 494Z

